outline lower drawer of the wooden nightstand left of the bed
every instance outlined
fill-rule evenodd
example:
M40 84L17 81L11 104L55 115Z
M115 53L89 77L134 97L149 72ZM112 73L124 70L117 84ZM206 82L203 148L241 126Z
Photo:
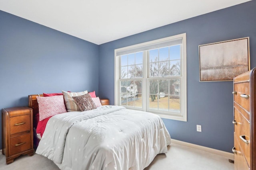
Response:
M31 134L20 135L10 139L10 155L31 149Z

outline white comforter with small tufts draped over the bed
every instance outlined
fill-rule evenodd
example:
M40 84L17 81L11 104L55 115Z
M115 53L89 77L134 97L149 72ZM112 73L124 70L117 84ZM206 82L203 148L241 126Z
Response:
M143 170L167 145L158 115L102 106L50 118L36 153L62 170Z

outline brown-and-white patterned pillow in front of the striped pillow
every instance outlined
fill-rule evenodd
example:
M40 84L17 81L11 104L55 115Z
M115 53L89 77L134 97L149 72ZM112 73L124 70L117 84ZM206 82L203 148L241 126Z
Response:
M90 94L84 94L82 96L72 96L76 104L79 106L81 111L96 109L92 97Z

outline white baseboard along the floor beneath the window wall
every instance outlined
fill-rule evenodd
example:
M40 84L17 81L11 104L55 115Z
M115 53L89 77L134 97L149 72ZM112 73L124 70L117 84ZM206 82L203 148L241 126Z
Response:
M203 146L200 146L200 145L195 145L195 144L187 143L187 142L183 142L183 141L178 141L176 139L171 139L171 142L176 143L178 145L185 146L185 147L190 147L190 148L210 152L210 153L213 153L213 154L218 154L220 156L225 156L228 159L234 160L234 154L233 153L229 153L229 152L225 152L225 151L217 150L217 149L212 149L212 148L208 148L208 147L203 147Z

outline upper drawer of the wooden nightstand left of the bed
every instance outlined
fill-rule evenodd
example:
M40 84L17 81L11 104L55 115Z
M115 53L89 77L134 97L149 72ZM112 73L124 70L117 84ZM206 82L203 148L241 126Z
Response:
M30 131L31 118L29 115L20 115L10 117L10 134L15 134L24 131Z

